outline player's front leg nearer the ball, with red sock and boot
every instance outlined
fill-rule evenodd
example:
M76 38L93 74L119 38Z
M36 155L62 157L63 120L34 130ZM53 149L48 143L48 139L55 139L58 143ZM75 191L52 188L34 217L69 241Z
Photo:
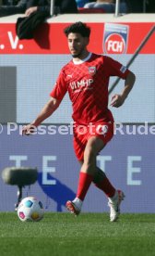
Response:
M83 200L96 173L96 156L103 147L104 143L101 138L97 136L89 137L79 173L77 196L73 201L66 202L67 210L76 215L81 211Z

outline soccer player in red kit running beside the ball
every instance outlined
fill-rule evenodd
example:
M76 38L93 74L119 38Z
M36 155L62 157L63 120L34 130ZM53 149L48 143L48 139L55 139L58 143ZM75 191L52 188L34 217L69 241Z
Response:
M113 58L88 51L90 29L86 24L76 22L68 26L65 33L72 60L60 71L51 99L36 120L23 127L23 134L30 134L34 126L37 127L51 116L68 92L73 106L74 149L81 169L77 196L66 202L66 208L78 215L89 186L93 183L108 197L110 221L114 222L118 219L120 204L125 195L97 167L96 158L113 137L113 115L108 109L110 76L125 80L121 94L112 97L111 106L118 108L124 104L131 91L135 74Z

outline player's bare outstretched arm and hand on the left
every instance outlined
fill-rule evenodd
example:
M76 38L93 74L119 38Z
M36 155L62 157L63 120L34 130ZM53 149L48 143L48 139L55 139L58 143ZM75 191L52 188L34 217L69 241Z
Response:
M22 134L32 134L37 126L39 126L45 119L54 113L54 111L59 107L60 102L61 100L51 97L50 100L42 108L38 117L30 124L23 127Z

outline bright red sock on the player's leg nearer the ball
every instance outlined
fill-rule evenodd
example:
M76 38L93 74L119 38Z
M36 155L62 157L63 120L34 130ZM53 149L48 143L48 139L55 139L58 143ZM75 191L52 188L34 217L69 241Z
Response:
M92 182L92 179L93 177L89 173L79 173L77 198L79 198L82 201L84 200L89 190L89 186Z

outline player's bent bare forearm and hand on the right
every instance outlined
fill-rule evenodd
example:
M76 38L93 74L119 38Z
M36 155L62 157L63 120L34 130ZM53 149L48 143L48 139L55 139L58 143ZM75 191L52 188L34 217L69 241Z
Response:
M125 87L120 95L112 96L111 106L118 108L122 106L125 102L126 97L130 93L134 83L136 81L136 76L132 71L129 71L125 78Z

